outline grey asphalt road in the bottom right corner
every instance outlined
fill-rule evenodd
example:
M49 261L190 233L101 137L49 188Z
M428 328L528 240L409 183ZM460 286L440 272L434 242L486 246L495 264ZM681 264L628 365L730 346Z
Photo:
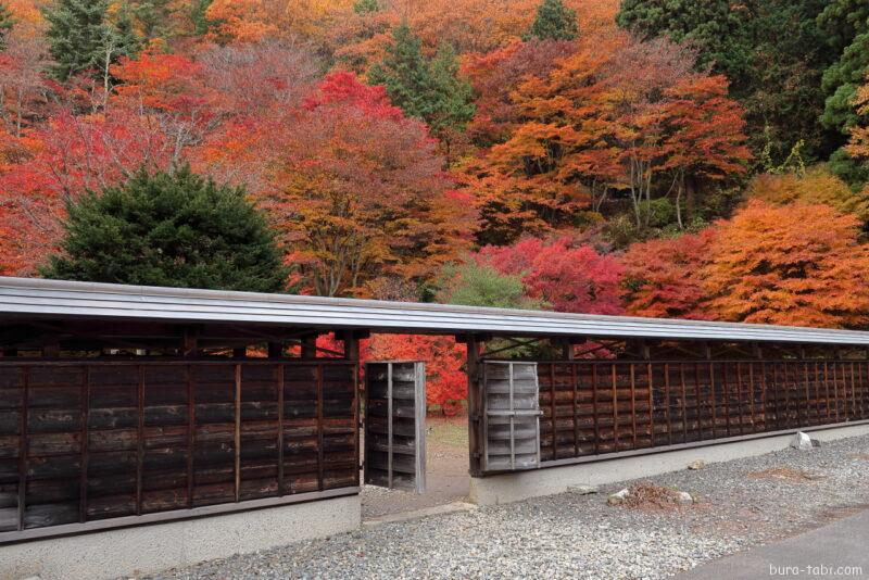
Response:
M713 560L676 578L869 578L869 510L786 540Z

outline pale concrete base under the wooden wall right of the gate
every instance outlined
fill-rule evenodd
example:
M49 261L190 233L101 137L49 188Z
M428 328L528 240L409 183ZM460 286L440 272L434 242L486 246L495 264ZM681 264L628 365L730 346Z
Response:
M826 429L804 429L819 441L832 441L869 433L869 425ZM478 505L495 505L564 493L574 486L602 486L617 481L656 476L684 469L696 459L706 463L728 462L740 457L764 455L785 449L793 433L773 434L751 440L722 442L660 453L614 457L609 459L547 467L490 477L470 478L470 501Z

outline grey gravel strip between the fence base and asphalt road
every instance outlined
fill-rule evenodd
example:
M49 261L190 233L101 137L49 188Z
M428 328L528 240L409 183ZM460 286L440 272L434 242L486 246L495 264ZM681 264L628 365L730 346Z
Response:
M786 469L782 469L786 468ZM869 437L650 478L698 504L671 510L565 493L389 524L154 579L663 578L869 508Z

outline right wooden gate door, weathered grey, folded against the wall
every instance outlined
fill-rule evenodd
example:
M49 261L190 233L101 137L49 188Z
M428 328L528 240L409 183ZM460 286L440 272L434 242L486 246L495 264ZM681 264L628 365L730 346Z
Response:
M537 363L482 363L483 471L540 466L539 390Z

